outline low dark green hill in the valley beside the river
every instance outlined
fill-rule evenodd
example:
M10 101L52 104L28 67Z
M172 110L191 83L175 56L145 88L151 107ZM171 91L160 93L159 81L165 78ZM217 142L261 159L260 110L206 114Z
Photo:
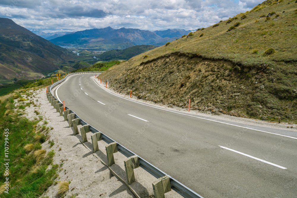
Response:
M129 58L132 58L133 56L136 56L138 54L152 50L154 48L156 48L156 46L154 46L154 45L136 45L136 46L124 49L124 50L106 51L96 57L102 61L128 60Z

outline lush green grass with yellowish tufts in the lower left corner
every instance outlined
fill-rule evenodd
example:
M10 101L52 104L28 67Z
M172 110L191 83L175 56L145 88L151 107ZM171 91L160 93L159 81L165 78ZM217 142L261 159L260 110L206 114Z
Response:
M7 109L7 107L9 107ZM13 99L8 98L1 101L0 105L0 122L3 133L0 138L0 152L4 153L5 134L4 129L9 129L8 145L9 145L9 194L2 194L1 197L40 197L57 177L58 166L52 164L53 151L49 151L37 163L33 152L25 150L25 146L30 146L33 151L41 149L40 143L35 138L40 133L35 133L36 125L39 122L30 121L27 118L20 117L14 113ZM8 111L10 113L8 113ZM29 147L28 147L29 148ZM0 160L4 161L4 155L0 156ZM52 168L46 171L48 165L52 164ZM3 183L5 166L0 166L0 182Z

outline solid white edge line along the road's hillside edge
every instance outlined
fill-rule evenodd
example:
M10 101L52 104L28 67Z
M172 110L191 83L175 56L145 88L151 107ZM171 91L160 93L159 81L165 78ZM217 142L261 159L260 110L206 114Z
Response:
M93 78L92 78L93 79ZM94 80L94 79L93 79ZM102 88L95 80L94 82L100 87ZM104 88L102 88L104 91L107 91L105 90ZM114 96L118 96L116 94L113 94L109 91L107 91L108 93L114 95ZM118 96L122 99L125 99L125 100L129 100L127 98L123 98L121 96ZM129 100L131 102L136 102L136 101L133 101L133 100ZM225 123L225 122L220 122L220 121L216 121L216 120L211 120L211 119L207 119L207 118L201 118L201 117L198 117L198 116L194 116L194 115L188 115L188 114L184 114L184 113L179 113L179 112L175 112L175 111L170 111L170 110L167 110L167 109L162 109L162 108L159 108L159 107L154 107L154 106L151 106L151 105L148 105L148 104L143 104L143 103L140 103L140 102L136 102L138 104L142 104L142 105L145 105L145 106L149 106L149 107L153 107L153 108L156 108L156 109L161 109L161 110L164 110L164 111L169 111L169 112L172 112L172 113L178 113L178 114L181 114L181 115L187 115L187 116L191 116L191 117L194 117L194 118L200 118L200 119L203 119L203 120L208 120L208 121L213 121L213 122L218 122L218 123L222 123L222 124L228 124L228 125L231 125L231 126L238 126L238 125L235 125L235 124L229 124L229 123ZM238 126L238 127L241 127L241 128L244 128L244 129L251 129L251 130L255 130L255 131L260 131L260 132L265 132L265 133L270 133L270 134L275 134L275 135L280 135L280 136L283 136L283 137L290 137L290 138L293 138L293 139L296 139L297 140L297 137L291 137L291 136L287 136L287 135L282 135L282 134L277 134L277 133L271 133L271 132L267 132L267 131L261 131L261 130L258 130L258 129L252 129L252 128L248 128L248 127L244 127L244 126Z

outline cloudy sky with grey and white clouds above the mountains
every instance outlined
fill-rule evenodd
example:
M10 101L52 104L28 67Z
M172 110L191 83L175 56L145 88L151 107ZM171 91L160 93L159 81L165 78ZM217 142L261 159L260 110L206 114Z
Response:
M246 12L264 0L1 0L0 17L44 32L91 28L195 30Z

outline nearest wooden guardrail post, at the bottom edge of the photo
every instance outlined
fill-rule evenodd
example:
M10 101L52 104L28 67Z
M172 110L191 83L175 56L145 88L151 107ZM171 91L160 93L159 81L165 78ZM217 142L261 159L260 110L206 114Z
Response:
M155 198L165 198L165 193L171 191L170 178L165 175L152 183Z

